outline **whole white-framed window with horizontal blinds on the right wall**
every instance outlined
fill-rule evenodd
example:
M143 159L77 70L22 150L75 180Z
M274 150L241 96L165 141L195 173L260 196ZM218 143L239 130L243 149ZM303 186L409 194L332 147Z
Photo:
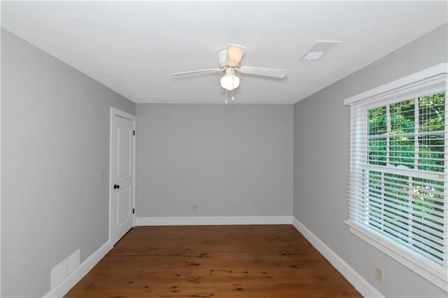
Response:
M448 292L446 72L435 67L345 101L351 105L346 223Z

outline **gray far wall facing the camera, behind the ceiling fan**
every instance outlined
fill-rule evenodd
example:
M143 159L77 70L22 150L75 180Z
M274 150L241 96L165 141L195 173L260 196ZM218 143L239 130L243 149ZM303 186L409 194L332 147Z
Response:
M293 105L137 104L137 160L139 217L292 215Z

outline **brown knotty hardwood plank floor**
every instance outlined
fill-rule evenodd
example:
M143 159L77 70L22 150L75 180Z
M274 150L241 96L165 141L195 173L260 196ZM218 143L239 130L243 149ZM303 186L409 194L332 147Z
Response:
M361 297L292 225L134 227L66 297Z

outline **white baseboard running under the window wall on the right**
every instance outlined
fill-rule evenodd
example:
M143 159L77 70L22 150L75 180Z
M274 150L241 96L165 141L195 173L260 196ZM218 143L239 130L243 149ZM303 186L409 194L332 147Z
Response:
M375 289L370 283L368 283L363 276L360 276L355 269L351 268L339 255L337 255L331 248L318 239L302 222L293 218L293 225L310 243L321 253L325 259L330 262L333 267L337 269L353 287L360 292L364 297L384 297L381 293Z

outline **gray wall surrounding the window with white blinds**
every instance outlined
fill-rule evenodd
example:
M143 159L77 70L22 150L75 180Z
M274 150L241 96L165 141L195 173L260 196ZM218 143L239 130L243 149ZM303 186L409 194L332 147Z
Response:
M347 218L345 98L448 62L448 29L435 29L377 62L295 104L294 216L386 297L447 293L384 255L344 224ZM374 267L384 282L374 279Z

